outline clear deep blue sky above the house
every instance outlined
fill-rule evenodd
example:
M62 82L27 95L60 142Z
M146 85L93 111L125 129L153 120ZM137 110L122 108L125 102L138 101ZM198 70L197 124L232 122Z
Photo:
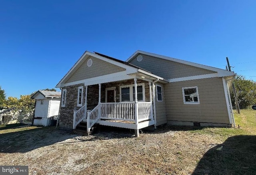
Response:
M0 86L53 88L86 51L136 50L225 68L256 81L255 0L2 0Z

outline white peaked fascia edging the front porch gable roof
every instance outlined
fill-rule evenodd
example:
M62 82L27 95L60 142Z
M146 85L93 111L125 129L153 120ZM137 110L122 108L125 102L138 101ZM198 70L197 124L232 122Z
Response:
M68 71L68 73L60 80L60 82L56 85L56 87L58 87L58 88L62 87L62 85L61 85L62 82L69 76L69 74L76 68L76 66L84 59L84 57L85 57L86 55L92 56L92 57L94 57L94 58L98 58L98 59L103 60L103 61L106 61L106 62L109 62L109 63L111 63L111 64L114 64L114 65L116 65L116 66L119 66L119 67L121 67L121 68L124 68L124 69L126 69L126 70L128 70L128 71L132 71L132 72L137 71L137 69L134 68L134 67L132 67L132 66L128 66L128 65L126 65L126 64L122 64L122 63L120 63L120 62L116 62L116 61L114 61L114 60L111 60L111 59L105 58L105 57L103 57L103 56L94 54L94 53L92 53L92 52L86 51L86 52L84 52L84 54L80 57L80 59L76 62L76 64L74 64L74 66Z

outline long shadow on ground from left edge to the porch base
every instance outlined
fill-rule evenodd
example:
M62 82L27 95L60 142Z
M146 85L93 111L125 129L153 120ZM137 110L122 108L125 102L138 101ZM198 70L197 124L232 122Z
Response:
M0 134L0 153L25 153L52 144L68 144L78 141L94 141L132 137L129 129L102 127L93 135L81 136L72 134L71 130L55 127L40 127L18 132ZM71 139L66 141L67 139ZM63 142L65 141L65 142Z

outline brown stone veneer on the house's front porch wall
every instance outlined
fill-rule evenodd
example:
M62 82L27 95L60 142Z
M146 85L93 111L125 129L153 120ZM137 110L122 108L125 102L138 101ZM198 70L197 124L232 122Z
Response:
M145 100L150 101L150 95L149 95L149 84L147 81L144 80L137 80L137 84L144 83L145 84ZM106 96L106 88L109 87L116 87L116 102L120 102L120 86L126 86L134 84L134 80L124 80L119 82L110 82L105 83L101 85L101 102L105 102L105 96ZM70 128L73 127L73 115L74 115L74 109L80 109L80 107L77 106L77 95L78 95L78 87L83 86L83 100L82 105L84 105L85 102L85 86L84 84L77 84L73 86L66 86L62 89L66 89L66 105L65 107L61 107L60 105L60 127ZM88 86L87 90L87 109L91 110L98 105L98 99L99 99L99 85L91 85Z

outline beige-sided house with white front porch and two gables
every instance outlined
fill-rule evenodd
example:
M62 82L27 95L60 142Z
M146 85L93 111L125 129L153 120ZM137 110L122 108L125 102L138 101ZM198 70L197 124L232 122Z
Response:
M60 127L95 123L138 130L162 124L232 126L234 72L135 52L125 62L86 51L56 87Z

